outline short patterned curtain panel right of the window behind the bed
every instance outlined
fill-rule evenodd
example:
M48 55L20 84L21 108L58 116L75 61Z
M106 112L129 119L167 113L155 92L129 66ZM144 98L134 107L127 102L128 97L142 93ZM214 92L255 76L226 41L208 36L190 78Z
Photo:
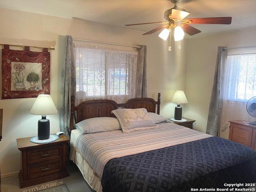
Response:
M147 97L147 46L138 45L136 97Z

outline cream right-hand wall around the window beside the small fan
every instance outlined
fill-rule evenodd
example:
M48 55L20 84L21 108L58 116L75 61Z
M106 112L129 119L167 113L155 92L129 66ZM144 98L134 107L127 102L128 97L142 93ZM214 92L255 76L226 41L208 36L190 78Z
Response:
M255 46L255 34L256 27L188 40L185 116L196 120L196 130L206 132L218 46ZM228 138L228 131L220 136Z

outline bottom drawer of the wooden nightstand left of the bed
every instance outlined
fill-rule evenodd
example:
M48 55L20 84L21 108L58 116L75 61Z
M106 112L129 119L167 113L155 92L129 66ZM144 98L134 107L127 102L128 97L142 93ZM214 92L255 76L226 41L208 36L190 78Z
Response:
M32 164L28 166L28 179L58 173L62 170L62 160L51 160L47 162Z

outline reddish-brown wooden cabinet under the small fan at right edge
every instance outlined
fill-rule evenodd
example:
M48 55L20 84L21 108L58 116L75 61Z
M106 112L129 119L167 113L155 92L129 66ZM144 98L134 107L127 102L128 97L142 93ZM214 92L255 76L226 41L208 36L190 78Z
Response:
M228 139L256 151L256 126L245 124L242 120L230 121Z

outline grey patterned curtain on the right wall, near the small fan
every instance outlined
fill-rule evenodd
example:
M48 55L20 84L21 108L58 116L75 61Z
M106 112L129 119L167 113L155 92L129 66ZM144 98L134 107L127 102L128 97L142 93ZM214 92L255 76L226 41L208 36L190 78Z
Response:
M227 58L226 47L218 47L218 54L215 66L212 95L209 106L206 133L213 136L220 136L220 119L223 105L223 72Z

